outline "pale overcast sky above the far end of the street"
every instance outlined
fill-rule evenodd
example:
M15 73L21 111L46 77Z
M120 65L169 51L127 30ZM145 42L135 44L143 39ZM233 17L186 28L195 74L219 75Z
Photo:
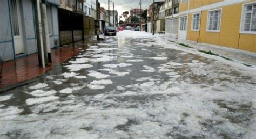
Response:
M155 0L156 2L164 1L164 0ZM104 7L106 10L108 9L108 0L99 0L100 6ZM120 16L124 11L129 11L132 8L139 8L140 0L110 0L110 10L113 10L113 2L114 2L114 10L117 10L118 16ZM142 0L142 9L146 9L147 6L153 3L153 0Z

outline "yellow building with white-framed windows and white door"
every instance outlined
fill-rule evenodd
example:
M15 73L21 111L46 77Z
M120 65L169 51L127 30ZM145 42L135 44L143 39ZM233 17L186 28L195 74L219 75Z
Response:
M256 0L180 0L182 40L256 52Z

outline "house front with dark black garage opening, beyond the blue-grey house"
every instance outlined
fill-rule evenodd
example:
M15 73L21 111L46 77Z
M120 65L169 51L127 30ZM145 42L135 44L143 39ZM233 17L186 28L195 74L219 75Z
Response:
M83 40L95 35L95 0L62 0L59 11L60 44Z

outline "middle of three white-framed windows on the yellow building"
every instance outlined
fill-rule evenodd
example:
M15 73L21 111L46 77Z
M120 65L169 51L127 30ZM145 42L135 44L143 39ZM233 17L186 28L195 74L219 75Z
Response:
M208 11L207 31L220 31L221 9Z

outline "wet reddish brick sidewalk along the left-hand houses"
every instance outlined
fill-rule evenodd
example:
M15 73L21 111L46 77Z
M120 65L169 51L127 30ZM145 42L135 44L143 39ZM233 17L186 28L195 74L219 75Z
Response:
M36 77L42 76L45 72L51 70L56 65L69 60L81 52L86 46L79 47L60 47L59 49L52 49L52 63L46 65L45 69L39 67L37 54L31 54L28 57L19 58L0 64L2 69L2 82L0 83L0 92L18 87Z

